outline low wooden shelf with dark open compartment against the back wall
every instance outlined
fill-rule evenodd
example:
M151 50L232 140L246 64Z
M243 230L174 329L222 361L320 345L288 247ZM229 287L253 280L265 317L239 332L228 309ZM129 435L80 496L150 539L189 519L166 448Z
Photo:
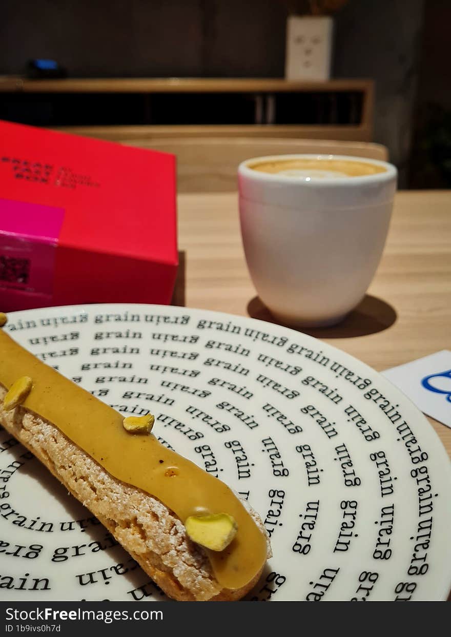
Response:
M136 126L140 136L147 127L147 134L161 137L234 134L371 141L373 82L3 76L0 118L52 128Z

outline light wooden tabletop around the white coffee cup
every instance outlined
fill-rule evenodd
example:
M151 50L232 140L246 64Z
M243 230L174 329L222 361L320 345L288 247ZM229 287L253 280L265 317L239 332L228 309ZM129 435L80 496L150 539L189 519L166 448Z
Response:
M248 275L236 194L180 195L178 215L185 305L271 321ZM451 348L451 191L399 192L368 295L340 326L308 333L378 370ZM429 421L451 456L451 429Z

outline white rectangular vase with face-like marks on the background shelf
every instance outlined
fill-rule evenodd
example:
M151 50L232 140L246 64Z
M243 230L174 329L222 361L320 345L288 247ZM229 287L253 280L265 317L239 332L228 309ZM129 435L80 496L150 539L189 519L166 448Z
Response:
M333 19L290 15L287 19L287 80L329 80Z

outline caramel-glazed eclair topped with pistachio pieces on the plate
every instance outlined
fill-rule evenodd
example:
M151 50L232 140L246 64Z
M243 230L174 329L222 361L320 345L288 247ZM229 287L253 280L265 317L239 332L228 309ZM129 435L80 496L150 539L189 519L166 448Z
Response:
M271 555L261 519L224 482L162 445L153 422L124 422L0 329L0 424L169 597L243 598Z

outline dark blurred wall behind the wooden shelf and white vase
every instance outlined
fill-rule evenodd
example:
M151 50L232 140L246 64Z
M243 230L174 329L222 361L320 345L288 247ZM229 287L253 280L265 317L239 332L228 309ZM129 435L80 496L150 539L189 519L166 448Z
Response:
M416 148L424 143L426 104L450 106L446 48L430 68L440 59L433 31L447 47L450 13L449 0L349 0L335 15L333 76L375 80L374 140L389 147L401 185L413 129ZM286 17L278 0L3 0L0 74L50 57L70 76L280 77Z

